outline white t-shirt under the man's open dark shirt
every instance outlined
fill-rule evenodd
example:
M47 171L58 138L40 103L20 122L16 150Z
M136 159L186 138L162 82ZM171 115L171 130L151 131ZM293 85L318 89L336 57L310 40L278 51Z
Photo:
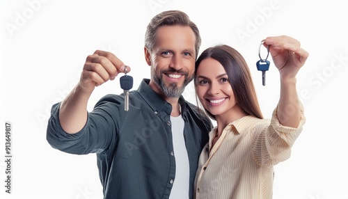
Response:
M189 156L184 139L184 120L171 116L173 148L175 156L175 180L170 199L189 198Z

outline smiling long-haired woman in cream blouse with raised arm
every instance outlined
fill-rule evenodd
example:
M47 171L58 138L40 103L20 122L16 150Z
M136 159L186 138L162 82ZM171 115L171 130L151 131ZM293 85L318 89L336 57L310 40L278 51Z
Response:
M262 118L246 61L227 45L210 47L196 62L200 104L217 127L200 154L196 198L271 198L273 166L290 157L305 122L296 74L308 53L287 36L264 40L280 72L280 100L271 120Z

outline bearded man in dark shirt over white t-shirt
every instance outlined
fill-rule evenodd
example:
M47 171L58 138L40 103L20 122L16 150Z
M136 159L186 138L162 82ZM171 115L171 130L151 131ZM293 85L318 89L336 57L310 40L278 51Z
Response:
M95 87L127 67L110 52L95 51L77 86L52 107L47 141L72 154L97 153L106 199L192 198L198 157L212 128L181 96L199 47L199 31L185 13L159 13L145 33L151 79L129 93L129 111L123 95L106 95L88 113Z

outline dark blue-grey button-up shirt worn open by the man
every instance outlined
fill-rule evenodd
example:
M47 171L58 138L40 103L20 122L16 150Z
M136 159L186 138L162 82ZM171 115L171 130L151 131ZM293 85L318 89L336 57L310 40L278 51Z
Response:
M129 92L129 111L122 95L106 95L88 113L77 134L67 134L58 120L59 104L52 107L47 141L53 148L72 154L97 153L104 198L168 198L175 183L175 154L171 132L172 106L148 86ZM198 157L212 129L210 120L196 106L180 97L184 139L189 155L189 198Z

